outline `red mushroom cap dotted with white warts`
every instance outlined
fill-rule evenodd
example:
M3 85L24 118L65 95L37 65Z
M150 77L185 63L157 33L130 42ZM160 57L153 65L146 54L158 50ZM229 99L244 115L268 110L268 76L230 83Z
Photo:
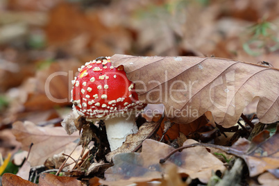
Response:
M79 115L94 119L144 108L124 67L113 67L110 57L86 62L78 71L71 102Z

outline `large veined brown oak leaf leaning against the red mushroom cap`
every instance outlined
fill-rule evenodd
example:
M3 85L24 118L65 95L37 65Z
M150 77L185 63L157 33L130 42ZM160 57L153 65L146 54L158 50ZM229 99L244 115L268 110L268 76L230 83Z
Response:
M217 124L235 125L255 98L257 117L279 120L279 70L247 62L201 57L139 57L115 54L112 65L124 65L140 101L163 103L164 115L180 124L206 111Z

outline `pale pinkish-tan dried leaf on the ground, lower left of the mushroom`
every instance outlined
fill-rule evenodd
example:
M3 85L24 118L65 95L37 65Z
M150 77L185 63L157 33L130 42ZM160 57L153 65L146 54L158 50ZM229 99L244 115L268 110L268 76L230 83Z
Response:
M28 160L31 166L44 164L47 158L61 152L71 153L79 139L78 132L67 135L62 127L40 127L30 121L17 121L12 124L12 133L22 142L22 149L28 151L33 143Z

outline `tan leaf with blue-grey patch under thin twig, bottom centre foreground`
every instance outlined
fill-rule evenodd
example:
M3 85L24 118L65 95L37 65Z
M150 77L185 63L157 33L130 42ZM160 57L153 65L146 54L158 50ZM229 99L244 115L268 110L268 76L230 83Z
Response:
M194 140L187 140L185 144L196 143ZM141 183L149 180L160 179L166 174L167 167L176 165L178 173L187 174L190 178L198 178L207 183L212 171L221 170L225 167L214 155L208 153L204 147L185 149L181 153L175 153L169 161L160 164L160 158L164 158L173 151L171 146L154 140L144 140L142 153L120 153L112 160L115 163L105 171L105 181L100 183L108 185L128 185ZM121 180L121 182L120 182Z

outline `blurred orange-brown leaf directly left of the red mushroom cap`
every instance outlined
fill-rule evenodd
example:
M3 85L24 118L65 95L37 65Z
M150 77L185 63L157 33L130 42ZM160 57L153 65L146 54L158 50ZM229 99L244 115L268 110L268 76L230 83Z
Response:
M70 82L78 67L80 64L77 60L60 60L38 70L33 82L35 88L28 92L28 99L24 103L25 110L49 110L57 105L69 105Z

